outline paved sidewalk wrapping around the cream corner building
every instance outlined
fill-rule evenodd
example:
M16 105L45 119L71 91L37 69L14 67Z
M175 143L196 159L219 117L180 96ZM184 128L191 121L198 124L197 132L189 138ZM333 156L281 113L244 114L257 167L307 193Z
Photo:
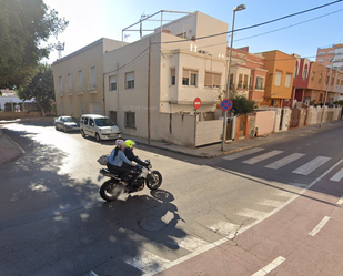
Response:
M327 129L331 129L337 125L343 125L343 121L336 121L333 123L324 124L323 127L320 127L319 125L310 125L310 126L305 126L301 129L292 129L292 130L284 131L284 132L271 133L268 136L263 136L263 137L244 139L244 140L239 140L239 141L226 142L223 152L220 150L221 147L220 143L192 149L192 147L186 147L186 146L173 145L173 144L169 144L165 142L151 141L150 146L174 152L174 153L184 154L184 155L192 156L192 157L213 159L213 157L226 155L233 152L239 152L239 151L243 151L246 149L260 146L263 144L282 141L282 140L286 140L291 137L296 137L296 136L305 135L309 133L320 132L320 131L327 130ZM149 145L147 139L134 137L130 135L123 135L123 136L124 139L132 139L138 144Z

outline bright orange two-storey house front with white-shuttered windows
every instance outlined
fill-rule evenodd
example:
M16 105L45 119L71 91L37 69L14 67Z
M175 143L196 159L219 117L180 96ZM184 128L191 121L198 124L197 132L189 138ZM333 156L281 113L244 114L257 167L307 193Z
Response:
M290 106L295 68L295 57L274 50L261 53L263 69L268 70L264 98L261 105Z

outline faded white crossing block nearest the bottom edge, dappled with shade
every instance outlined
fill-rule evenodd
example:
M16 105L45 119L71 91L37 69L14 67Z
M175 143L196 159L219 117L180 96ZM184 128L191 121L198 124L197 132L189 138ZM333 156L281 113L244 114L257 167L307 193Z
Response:
M133 258L124 259L124 262L128 265L131 265L142 270L143 273L149 273L151 270L159 269L170 263L168 259L159 257L147 251L142 252L141 254L139 254Z

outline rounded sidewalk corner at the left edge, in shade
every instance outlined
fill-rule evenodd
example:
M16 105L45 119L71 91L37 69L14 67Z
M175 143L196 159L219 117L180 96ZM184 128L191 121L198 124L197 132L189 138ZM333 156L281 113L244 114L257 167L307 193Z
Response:
M0 165L18 159L22 153L24 153L23 149L21 149L0 129Z

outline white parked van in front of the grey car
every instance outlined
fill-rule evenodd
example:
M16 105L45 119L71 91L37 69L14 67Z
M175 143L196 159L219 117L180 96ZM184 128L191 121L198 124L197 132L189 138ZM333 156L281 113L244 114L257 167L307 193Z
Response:
M80 131L83 137L91 136L100 140L120 139L119 127L108 116L87 114L80 120Z

